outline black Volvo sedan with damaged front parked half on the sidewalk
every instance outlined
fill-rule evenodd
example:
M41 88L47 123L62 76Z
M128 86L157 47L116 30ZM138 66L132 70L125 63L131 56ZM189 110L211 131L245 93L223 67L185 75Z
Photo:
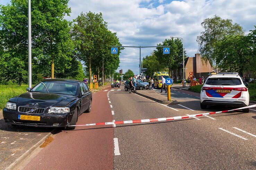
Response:
M91 111L92 92L83 81L48 79L9 99L3 118L12 125L75 129L79 115Z

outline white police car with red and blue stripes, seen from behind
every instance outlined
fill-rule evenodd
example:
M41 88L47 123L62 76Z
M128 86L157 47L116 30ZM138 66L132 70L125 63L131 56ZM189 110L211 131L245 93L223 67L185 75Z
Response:
M200 106L225 105L245 107L249 105L249 92L238 73L214 73L205 81L200 92ZM248 113L248 109L243 109Z

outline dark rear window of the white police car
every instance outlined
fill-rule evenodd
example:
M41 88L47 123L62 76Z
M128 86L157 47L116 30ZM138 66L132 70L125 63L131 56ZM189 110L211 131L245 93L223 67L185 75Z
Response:
M222 85L222 86L237 86L241 85L241 81L237 78L210 78L205 84Z

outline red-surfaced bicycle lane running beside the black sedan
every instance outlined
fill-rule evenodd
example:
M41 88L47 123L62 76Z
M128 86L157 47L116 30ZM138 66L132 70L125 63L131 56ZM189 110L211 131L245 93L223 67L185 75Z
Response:
M93 93L91 112L80 115L77 124L112 122L107 92ZM24 169L113 169L113 128L106 127L60 132Z

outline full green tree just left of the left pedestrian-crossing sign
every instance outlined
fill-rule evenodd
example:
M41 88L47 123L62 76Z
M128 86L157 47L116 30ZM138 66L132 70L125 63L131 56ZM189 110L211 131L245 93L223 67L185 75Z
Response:
M120 62L120 51L118 51L118 54L111 56L110 45L120 45L120 43L116 33L111 33L107 29L107 23L104 22L102 14L93 12L84 14L82 12L74 22L72 38L75 41L75 55L85 62L89 69L89 77L92 75L92 66L94 72L99 74L102 58L105 61L104 65L107 66L105 71L116 70Z

